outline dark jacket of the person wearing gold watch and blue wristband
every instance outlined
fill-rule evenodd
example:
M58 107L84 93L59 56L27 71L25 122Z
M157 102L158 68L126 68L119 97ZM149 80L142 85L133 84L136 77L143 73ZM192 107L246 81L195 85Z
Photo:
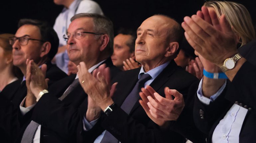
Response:
M256 140L256 65L255 50L256 41L250 42L239 49L248 61L246 61L235 75L232 82L228 82L224 91L209 105L202 104L195 97L194 121L196 126L208 134L207 142L211 142L212 134L219 121L224 118L233 104L238 104L249 109L244 119L239 143L250 143ZM200 111L201 110L201 111ZM200 115L204 118L201 119Z

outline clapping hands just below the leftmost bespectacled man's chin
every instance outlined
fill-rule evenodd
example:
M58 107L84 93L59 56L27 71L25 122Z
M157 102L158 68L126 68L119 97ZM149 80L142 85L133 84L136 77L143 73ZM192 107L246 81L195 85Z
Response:
M34 63L33 60L27 59L27 73L26 73L26 85L28 91L34 94L37 98L40 91L48 89L49 79L45 79L47 65L43 64L41 69Z

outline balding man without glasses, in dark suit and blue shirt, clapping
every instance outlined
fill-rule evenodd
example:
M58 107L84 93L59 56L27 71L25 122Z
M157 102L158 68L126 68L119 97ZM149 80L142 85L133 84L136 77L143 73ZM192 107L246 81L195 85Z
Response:
M198 81L173 60L177 56L182 37L181 25L168 16L155 15L143 21L137 29L135 43L135 57L142 67L124 71L112 80L112 83L117 82L113 98L110 97L113 89L109 91L104 80L108 79L107 73L99 70L92 77L86 71L86 63L80 63L79 82L86 80L90 83L81 86L92 98L93 102L88 104L93 104L98 113L86 114L81 133L84 141L184 142L185 139L176 132L162 131L150 120L139 103L139 91L146 85L151 85L161 95L165 87L170 87L186 96L190 85ZM104 113L99 114L102 111Z

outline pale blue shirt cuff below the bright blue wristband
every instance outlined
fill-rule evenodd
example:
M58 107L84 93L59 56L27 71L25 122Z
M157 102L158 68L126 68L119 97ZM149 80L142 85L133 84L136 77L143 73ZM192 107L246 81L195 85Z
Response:
M227 84L227 80L225 81L225 83L221 86L221 88L213 95L211 95L210 98L207 98L205 96L203 96L203 92L202 92L202 81L203 81L203 78L201 79L199 85L198 85L198 89L197 89L197 97L198 99L206 104L206 105L209 105L210 102L213 102L221 93L222 91L225 89L226 87L226 84Z

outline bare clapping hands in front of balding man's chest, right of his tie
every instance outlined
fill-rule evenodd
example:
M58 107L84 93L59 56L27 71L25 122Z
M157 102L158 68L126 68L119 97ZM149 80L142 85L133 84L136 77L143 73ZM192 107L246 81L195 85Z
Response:
M152 87L146 86L146 89L142 88L140 93L143 101L139 101L147 115L160 126L165 125L164 121L176 121L185 106L183 95L177 90L166 87L164 92L166 98L159 95Z

